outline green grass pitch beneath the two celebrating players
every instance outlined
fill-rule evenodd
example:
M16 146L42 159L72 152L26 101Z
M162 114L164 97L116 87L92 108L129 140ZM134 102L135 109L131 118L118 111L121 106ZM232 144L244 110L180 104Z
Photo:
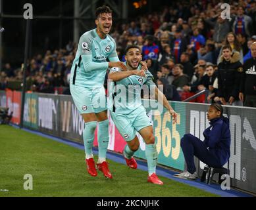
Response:
M91 177L83 150L0 125L0 197L217 196L165 177L160 177L165 184L157 186L147 182L146 171L128 169L111 160L109 163L112 180L101 172ZM33 190L24 190L25 174L32 175Z

